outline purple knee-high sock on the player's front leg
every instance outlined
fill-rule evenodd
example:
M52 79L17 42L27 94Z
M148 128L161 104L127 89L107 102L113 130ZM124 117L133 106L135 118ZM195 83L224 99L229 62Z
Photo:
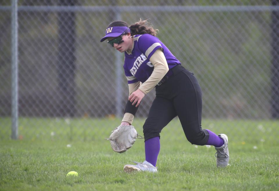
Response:
M160 151L160 138L153 137L145 141L145 160L156 166L157 157Z

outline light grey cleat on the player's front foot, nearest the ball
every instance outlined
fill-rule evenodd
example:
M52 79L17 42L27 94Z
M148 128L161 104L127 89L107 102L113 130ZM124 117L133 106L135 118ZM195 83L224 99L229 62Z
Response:
M153 166L151 163L147 161L143 161L143 163L136 163L136 165L127 164L124 166L124 172L138 172L138 171L148 171L148 172L157 172L157 167Z

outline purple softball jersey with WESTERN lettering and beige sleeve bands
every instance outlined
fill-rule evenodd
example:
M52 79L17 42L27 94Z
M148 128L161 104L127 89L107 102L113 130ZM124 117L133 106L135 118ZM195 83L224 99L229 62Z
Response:
M132 54L125 52L124 71L128 83L145 82L153 72L154 66L149 61L153 53L161 48L166 57L169 69L180 64L180 61L169 49L151 34L139 34L134 36Z

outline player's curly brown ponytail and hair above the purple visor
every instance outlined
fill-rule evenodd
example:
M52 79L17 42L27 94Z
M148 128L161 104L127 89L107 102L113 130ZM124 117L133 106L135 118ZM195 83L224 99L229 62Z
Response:
M135 34L151 34L153 36L156 36L158 29L154 29L151 23L149 23L147 20L142 21L140 19L139 21L135 22L134 24L128 26L128 24L124 21L113 21L108 25L109 27L113 26L126 26L130 28L130 31L133 35Z

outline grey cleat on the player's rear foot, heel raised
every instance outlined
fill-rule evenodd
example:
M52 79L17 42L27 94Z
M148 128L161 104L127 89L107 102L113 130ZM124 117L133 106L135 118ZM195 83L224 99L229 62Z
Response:
M224 144L221 147L215 147L217 151L215 157L217 158L217 167L226 167L229 163L229 149L228 149L228 137L225 134L219 134L220 138L224 140Z

